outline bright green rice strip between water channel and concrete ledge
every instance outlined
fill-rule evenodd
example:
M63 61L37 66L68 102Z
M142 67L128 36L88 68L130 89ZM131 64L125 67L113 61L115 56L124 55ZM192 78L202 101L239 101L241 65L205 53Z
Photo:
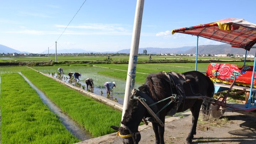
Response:
M113 133L110 126L120 124L122 112L35 71L22 71L22 74L94 137Z

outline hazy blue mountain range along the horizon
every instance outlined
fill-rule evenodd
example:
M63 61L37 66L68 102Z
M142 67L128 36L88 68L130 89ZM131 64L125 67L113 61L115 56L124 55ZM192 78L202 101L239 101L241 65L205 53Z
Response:
M143 53L143 50L147 50L148 54L195 54L195 46L179 47L179 48L139 48L139 53ZM255 55L256 49L251 49L249 54ZM0 44L0 53L29 53L21 52L10 47L6 47ZM48 50L42 52L48 54ZM40 54L42 54L40 53ZM49 49L49 53L54 54L55 50ZM130 53L130 49L123 49L117 52L94 52L83 49L57 49L57 53ZM245 50L242 48L233 48L230 44L220 45L202 45L198 46L198 54L245 54Z

